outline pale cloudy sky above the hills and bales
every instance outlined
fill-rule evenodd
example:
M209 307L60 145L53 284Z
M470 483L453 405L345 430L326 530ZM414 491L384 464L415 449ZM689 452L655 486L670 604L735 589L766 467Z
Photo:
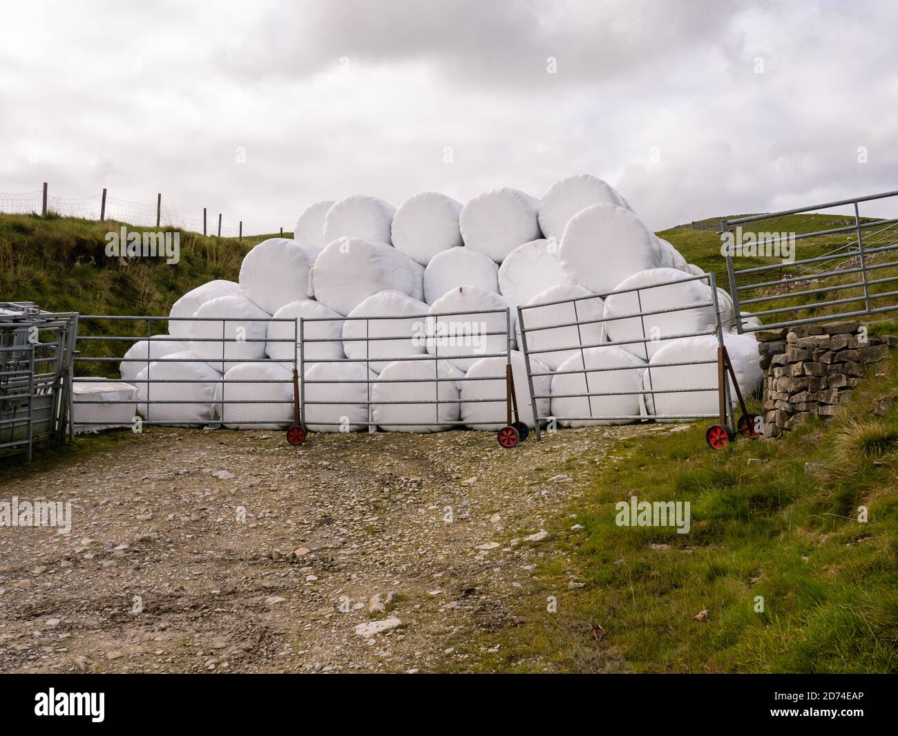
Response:
M892 0L0 0L0 17L3 192L161 191L258 233L351 193L540 196L571 173L654 229L898 189Z

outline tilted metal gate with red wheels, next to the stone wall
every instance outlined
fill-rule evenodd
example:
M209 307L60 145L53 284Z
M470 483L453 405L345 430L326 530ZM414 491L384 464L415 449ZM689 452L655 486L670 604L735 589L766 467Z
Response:
M736 437L759 438L761 418L748 412L726 352L725 335L741 322L728 298L713 273L683 272L682 278L665 275L645 286L519 306L537 439L541 426L702 419L718 422L706 433L712 449L726 448ZM705 329L677 328L702 321ZM694 345L694 354L665 359L667 344L688 340L682 344ZM549 365L539 368L541 359ZM537 390L547 379L550 391ZM738 421L734 393L742 410ZM556 407L565 411L554 412Z

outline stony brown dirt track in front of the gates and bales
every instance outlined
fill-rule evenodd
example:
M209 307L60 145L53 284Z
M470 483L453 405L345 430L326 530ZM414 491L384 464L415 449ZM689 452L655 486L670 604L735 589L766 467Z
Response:
M536 555L560 554L539 532L580 482L559 467L669 428L515 450L488 432L296 449L281 432L154 428L4 481L0 501L73 503L68 535L0 528L0 671L470 669L456 648L515 626Z

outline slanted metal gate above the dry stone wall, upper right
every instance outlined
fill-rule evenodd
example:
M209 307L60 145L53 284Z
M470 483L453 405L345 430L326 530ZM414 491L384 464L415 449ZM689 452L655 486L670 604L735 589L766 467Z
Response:
M832 227L813 233L762 233L761 235L776 236L757 239L757 246L770 249L771 252L774 250L781 252L784 241L787 239L798 241L849 233L855 235L853 242L814 258L770 263L737 270L734 264L735 253L733 251L735 248L727 248L726 270L729 275L730 293L733 297L736 314L742 314L744 306L766 306L767 308L761 311L752 312L752 315L770 319L768 324L762 326L743 324L742 320L736 320L736 329L740 333L755 332L762 329L788 327L793 324L811 324L862 315L876 315L898 309L898 290L890 288L893 285L898 286L898 261L890 260L890 256L886 255L883 262L877 262L878 256L898 251L898 230L895 227L898 225L898 218L862 222L858 207L860 202L885 200L891 197L898 197L898 191L886 191L851 200L836 200L811 207L784 209L763 215L721 220L721 236L727 238L729 235L730 238L733 238L733 228L736 228L735 232L740 232L746 223L762 223L764 220L775 217L816 212L819 209L851 207L854 210L853 225ZM879 272L884 269L893 269L895 275L890 276L886 273L881 278L875 278L880 276ZM859 279L854 276L855 274L859 274ZM777 278L771 278L772 276ZM846 277L853 278L847 279ZM840 281L846 282L840 283ZM793 290L800 284L811 288ZM855 293L846 293L844 296L834 293L847 292L850 289L854 289ZM760 292L760 294L753 296L752 292ZM818 297L821 295L830 298L820 300ZM884 299L887 300L885 304L882 301ZM797 304L788 304L788 302L797 302ZM787 306L777 306L778 303L787 303ZM805 310L817 311L819 314L797 316L797 313Z

